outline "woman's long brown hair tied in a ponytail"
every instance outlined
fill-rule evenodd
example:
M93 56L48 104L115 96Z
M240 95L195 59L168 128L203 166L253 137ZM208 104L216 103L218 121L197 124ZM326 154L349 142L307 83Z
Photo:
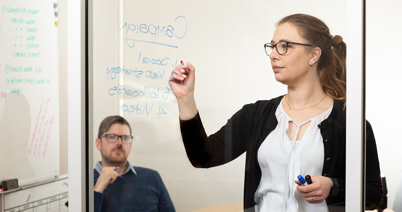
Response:
M346 43L339 35L332 36L320 19L306 14L292 14L282 18L277 26L289 23L311 48L319 47L318 73L322 90L332 99L346 101Z

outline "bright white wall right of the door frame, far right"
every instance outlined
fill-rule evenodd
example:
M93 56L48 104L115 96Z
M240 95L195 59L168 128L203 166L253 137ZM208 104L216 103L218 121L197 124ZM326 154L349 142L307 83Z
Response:
M394 202L401 202L395 195L402 171L402 1L366 2L366 118L373 126L381 175L387 182L388 208L392 208Z

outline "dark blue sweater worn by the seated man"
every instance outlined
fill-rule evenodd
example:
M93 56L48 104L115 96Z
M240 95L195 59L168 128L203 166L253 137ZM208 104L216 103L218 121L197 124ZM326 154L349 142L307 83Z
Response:
M94 179L98 176L99 172L94 169ZM103 193L94 191L94 212L114 211L174 212L175 210L159 173L152 169L133 167L117 177Z

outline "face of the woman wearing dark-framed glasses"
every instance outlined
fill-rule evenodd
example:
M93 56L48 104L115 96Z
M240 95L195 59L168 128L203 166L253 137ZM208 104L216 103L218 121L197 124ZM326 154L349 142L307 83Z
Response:
M295 43L305 43L301 38L296 27L288 23L283 23L275 30L271 43L289 41ZM308 44L308 43L307 43ZM288 86L299 86L311 80L313 71L310 65L311 52L306 50L306 46L289 44L287 52L283 55L274 49L269 55L272 69L275 73L275 80Z

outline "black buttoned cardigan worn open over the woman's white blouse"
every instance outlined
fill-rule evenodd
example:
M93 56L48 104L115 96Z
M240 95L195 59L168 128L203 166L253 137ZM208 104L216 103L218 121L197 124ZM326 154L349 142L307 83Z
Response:
M254 211L254 193L261 179L257 151L278 124L275 111L282 97L244 105L225 126L209 137L198 113L190 120L180 120L187 157L194 167L222 165L246 152L244 210ZM345 208L346 111L343 104L334 100L330 115L318 125L324 143L322 176L334 177L340 185L338 196L326 199L330 211L344 211ZM366 207L374 210L381 203L384 191L373 130L366 123Z

